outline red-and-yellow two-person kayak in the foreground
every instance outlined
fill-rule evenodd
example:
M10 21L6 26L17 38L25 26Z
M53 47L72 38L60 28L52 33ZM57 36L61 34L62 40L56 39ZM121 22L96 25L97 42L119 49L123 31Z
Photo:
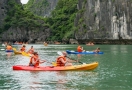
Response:
M13 66L13 70L25 70L25 71L81 71L81 70L94 70L97 68L98 62L93 62L90 64L81 64L81 65L73 65L73 66L27 66L27 65L15 65Z

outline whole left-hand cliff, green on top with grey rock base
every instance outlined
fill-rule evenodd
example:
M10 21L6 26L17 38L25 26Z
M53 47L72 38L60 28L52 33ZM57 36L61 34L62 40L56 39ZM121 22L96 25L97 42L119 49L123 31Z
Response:
M49 37L50 28L44 19L24 10L20 0L2 0L0 4L0 41L35 43Z

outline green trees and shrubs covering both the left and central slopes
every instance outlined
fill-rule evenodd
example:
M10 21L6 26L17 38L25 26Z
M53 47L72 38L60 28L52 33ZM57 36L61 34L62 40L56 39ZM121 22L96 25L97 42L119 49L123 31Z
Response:
M74 19L77 10L78 0L59 0L56 8L52 11L52 14L48 18L37 16L29 8L43 8L42 5L49 5L47 0L33 6L33 2L36 0L29 0L24 8L21 4L15 3L15 0L8 1L7 17L2 28L0 28L0 33L2 30L8 30L10 27L23 27L27 30L34 30L37 32L39 28L47 27L51 28L51 35L48 40L58 40L62 39L68 40L69 38L74 38L74 31L77 29L74 27ZM86 25L84 25L84 28Z

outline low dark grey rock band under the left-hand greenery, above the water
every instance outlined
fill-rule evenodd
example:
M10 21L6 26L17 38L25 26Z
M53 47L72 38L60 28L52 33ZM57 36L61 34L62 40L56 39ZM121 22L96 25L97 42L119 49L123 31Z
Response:
M27 30L25 28L10 28L2 34L2 41L25 41L29 43L42 42L50 35L50 29L44 28L36 30Z

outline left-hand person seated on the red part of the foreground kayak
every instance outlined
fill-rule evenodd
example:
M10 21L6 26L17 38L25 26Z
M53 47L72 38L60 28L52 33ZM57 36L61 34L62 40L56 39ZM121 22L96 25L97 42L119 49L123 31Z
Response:
M30 58L29 66L38 67L40 63L46 62L45 60L41 61L39 59L38 53L34 52L33 55Z

